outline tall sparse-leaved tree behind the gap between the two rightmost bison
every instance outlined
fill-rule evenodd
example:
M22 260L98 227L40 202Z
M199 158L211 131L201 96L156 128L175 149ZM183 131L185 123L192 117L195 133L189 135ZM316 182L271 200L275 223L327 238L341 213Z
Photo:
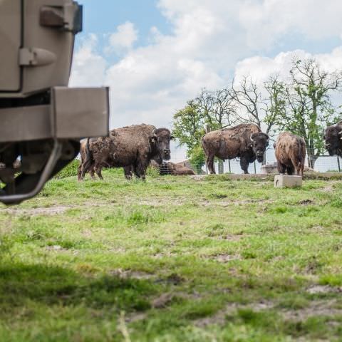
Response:
M331 92L342 86L341 73L328 73L314 59L294 60L290 82L275 81L276 89L285 94L286 106L282 108L277 125L300 135L306 142L309 167L314 168L324 151L323 130L338 120L336 108L331 103Z

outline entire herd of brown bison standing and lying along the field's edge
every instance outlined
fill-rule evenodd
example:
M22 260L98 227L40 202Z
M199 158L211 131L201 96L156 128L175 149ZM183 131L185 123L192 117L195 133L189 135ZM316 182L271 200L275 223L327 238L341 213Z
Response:
M342 121L326 128L323 138L329 155L342 157ZM168 162L172 139L167 128L142 124L111 130L108 137L82 140L78 180L83 180L87 172L93 179L96 174L103 180L103 167L123 167L128 180L133 175L144 180L149 165L157 167L161 175L195 175L184 162ZM203 135L201 143L209 173L215 173L214 157L221 160L238 157L242 170L248 173L250 163L263 162L269 135L261 132L259 126L248 123L209 132ZM296 172L303 176L306 157L303 138L280 133L274 150L279 173L293 175Z

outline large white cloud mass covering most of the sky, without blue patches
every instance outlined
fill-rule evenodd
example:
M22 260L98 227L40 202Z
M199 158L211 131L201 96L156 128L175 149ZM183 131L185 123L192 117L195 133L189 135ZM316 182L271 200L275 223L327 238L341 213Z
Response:
M163 35L151 25L150 44L135 47L135 26L118 26L109 44L124 54L108 68L95 51L94 36L76 53L72 84L110 86L113 127L170 126L175 110L201 88L227 85L234 71L237 77L259 79L274 71L286 73L294 53L308 54L279 51L268 57L286 34L321 39L342 33L339 0L160 0L158 6L172 33ZM338 68L342 48L316 57L327 68Z

